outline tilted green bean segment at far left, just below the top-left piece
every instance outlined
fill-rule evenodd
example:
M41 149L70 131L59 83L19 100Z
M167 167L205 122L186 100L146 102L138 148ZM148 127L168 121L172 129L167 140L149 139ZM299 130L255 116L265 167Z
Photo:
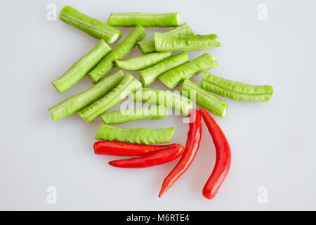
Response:
M61 77L55 79L52 82L53 86L55 86L55 88L61 93L64 93L70 89L72 85L84 78L88 72L90 72L98 63L100 63L100 60L102 60L110 51L110 46L106 44L105 40L100 39L98 44L93 49L91 49L91 51L86 53L86 55L74 63L72 67Z

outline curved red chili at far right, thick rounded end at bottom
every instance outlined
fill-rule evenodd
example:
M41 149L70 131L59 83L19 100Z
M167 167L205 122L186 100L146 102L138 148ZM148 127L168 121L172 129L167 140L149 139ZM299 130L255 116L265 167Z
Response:
M206 110L200 108L203 120L206 124L206 127L209 129L209 133L212 136L215 148L216 148L216 162L209 179L206 181L206 184L203 188L203 195L205 198L213 198L220 185L223 184L225 177L230 170L230 145L225 138L223 131L220 129L215 120L206 112Z

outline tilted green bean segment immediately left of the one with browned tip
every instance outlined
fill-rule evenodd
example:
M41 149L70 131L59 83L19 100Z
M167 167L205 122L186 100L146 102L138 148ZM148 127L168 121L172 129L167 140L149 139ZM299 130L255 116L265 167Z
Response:
M187 56L187 52L183 51L181 53L178 53L175 56L167 58L150 68L140 71L140 81L142 82L143 86L148 86L156 82L158 77L164 72L167 72L168 70L176 68L179 65L187 62L189 62L189 56Z

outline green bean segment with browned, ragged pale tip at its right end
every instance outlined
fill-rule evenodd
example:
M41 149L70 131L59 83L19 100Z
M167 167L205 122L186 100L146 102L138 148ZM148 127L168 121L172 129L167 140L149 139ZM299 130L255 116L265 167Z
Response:
M204 53L188 63L165 72L158 79L168 86L169 89L173 89L180 85L183 79L190 79L200 72L216 67L216 65L218 65L216 57L211 56L209 53Z

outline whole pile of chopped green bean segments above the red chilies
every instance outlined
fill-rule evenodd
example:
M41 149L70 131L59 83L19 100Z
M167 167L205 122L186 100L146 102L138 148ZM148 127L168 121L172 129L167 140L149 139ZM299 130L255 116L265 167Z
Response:
M244 84L206 72L218 65L216 56L204 53L190 60L187 51L219 47L220 40L216 34L195 34L189 25L180 24L180 13L111 13L107 23L104 23L71 6L64 6L59 18L99 41L65 74L52 82L60 93L65 93L88 75L93 86L65 99L49 111L54 121L74 113L87 122L93 122L100 116L105 124L98 128L96 139L143 144L169 142L176 127L133 129L110 124L161 120L168 115L166 108L188 116L195 108L195 103L210 113L225 117L228 103L213 94L237 101L265 102L272 97L273 87L270 85ZM114 27L134 28L126 39L111 49L108 44L115 44L122 35ZM145 38L144 27L173 28L166 32L154 32L153 36ZM143 55L124 60L136 45ZM114 68L120 70L105 77ZM140 81L129 73L124 75L122 70L139 71ZM199 85L190 81L190 78L201 72L204 75ZM181 83L183 86L178 93L147 88L158 80L169 89L174 89ZM107 112L129 94L133 94L133 101L152 105L147 108Z

